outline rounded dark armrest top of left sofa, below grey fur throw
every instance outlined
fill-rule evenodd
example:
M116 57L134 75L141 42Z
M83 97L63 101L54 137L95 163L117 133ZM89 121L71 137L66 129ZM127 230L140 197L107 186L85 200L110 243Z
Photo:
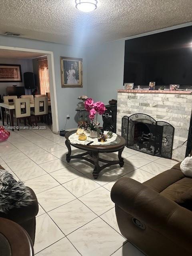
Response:
M7 214L1 212L0 217L12 220L17 223L23 223L34 218L38 214L39 210L38 201L34 191L31 188L28 189L32 194L32 203L28 204L27 206L12 208Z

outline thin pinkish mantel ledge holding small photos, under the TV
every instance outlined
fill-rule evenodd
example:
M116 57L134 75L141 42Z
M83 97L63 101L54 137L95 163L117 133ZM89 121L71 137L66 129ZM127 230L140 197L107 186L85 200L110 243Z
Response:
M167 90L117 90L126 93L163 93L163 94L192 94L192 91L167 91Z

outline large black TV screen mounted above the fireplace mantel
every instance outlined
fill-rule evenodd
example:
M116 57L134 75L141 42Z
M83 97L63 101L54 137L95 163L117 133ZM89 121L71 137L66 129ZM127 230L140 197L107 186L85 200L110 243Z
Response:
M124 83L192 86L192 26L125 41Z

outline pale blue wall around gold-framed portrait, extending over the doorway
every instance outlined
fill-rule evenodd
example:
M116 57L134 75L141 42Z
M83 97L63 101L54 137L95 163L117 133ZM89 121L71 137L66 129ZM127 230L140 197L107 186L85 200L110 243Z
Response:
M76 104L77 97L87 94L87 58L85 48L73 47L64 44L55 44L25 38L15 38L12 36L0 36L0 45L13 46L28 49L52 51L54 54L54 68L56 80L56 97L58 105L59 130L64 129L66 115L70 115L70 120L66 128L76 128ZM61 88L60 76L60 56L83 59L83 87L82 88Z

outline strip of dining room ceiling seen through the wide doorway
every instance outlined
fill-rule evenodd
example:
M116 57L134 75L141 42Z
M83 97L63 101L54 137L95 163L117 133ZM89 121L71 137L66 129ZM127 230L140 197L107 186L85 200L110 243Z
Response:
M16 50L3 50L0 49L0 58L11 59L33 59L42 56L42 54L35 52L22 52Z

